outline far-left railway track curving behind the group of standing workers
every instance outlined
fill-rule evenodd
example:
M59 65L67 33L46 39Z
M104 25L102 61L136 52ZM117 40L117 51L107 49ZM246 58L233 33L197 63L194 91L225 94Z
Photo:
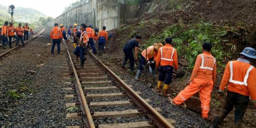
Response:
M27 41L24 41L25 45L27 45L29 42L31 42L32 40L36 39L37 37L41 36L44 32L46 32L46 27L42 27L40 30L38 30L37 32L35 32L32 36L32 38L28 39ZM14 42L16 40L13 40L12 42ZM11 49L1 49L0 51L0 58L9 54L11 51L19 48L20 46L22 46L21 44L18 46L15 46Z

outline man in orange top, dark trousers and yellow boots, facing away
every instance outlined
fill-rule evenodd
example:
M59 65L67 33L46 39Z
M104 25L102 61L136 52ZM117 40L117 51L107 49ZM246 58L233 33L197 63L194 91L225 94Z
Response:
M165 46L162 46L158 50L156 60L156 69L158 69L159 65L161 65L160 74L157 82L157 92L160 92L162 83L164 82L163 96L170 96L167 91L170 88L170 83L172 82L173 70L178 70L177 51L171 44L172 38L166 38Z

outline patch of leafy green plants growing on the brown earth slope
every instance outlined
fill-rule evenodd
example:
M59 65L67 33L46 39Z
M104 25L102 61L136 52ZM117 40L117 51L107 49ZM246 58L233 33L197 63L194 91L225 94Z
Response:
M184 25L183 23L174 24L166 27L162 33L151 35L150 39L146 40L146 46L151 46L153 42L162 42L166 37L173 37L173 45L178 51L178 55L185 55L188 60L189 69L193 68L193 64L197 55L201 54L202 43L209 42L212 44L211 53L217 60L218 67L225 67L222 63L229 52L224 52L228 39L223 39L227 36L227 28L214 26L210 23L198 23ZM220 69L217 70L221 72Z

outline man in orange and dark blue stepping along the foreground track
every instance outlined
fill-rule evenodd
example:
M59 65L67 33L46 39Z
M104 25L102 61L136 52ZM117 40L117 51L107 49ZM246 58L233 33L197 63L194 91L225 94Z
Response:
M78 41L78 46L75 48L73 54L76 56L80 57L81 60L81 64L80 67L83 68L84 66L84 61L85 61L85 57L84 54L87 52L87 44L89 42L89 37L86 33L86 25L85 24L81 24L80 25L80 30L82 31L81 36L80 36L80 41Z

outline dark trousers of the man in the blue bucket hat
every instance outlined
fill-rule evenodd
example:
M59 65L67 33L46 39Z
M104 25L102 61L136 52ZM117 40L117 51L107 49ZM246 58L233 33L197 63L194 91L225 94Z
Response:
M222 113L219 117L214 119L215 124L220 124L229 114L231 110L235 107L235 124L240 124L243 120L244 114L246 112L249 103L249 96L241 95L237 92L228 91L228 96Z

